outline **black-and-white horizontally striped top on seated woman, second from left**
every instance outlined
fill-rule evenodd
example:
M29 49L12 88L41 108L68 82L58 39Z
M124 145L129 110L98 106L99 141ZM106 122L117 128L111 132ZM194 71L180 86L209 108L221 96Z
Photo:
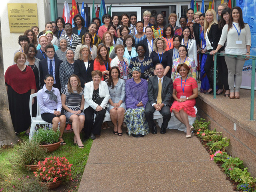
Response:
M82 88L81 92L78 94L77 91L74 93L68 92L68 88L62 90L62 94L66 95L65 105L73 111L78 111L81 107L82 97L84 96L84 89ZM67 112L63 109L63 112Z

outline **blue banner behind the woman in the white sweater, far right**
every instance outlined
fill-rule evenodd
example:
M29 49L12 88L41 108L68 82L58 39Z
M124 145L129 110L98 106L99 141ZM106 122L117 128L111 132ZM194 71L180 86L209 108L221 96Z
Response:
M256 56L256 0L237 0L236 5L242 9L244 22L250 26L252 46L250 55ZM241 88L251 88L252 60L246 60L242 72ZM255 81L256 82L256 81ZM255 83L256 85L256 83Z

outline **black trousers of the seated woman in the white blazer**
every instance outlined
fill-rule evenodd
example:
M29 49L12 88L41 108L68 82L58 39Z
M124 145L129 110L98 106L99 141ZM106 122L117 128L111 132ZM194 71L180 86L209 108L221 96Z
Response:
M85 128L86 139L90 137L91 133L93 133L94 135L100 135L101 126L105 118L106 110L99 111L95 120L93 120L94 112L96 111L90 106L84 110L84 114L85 114L84 128Z

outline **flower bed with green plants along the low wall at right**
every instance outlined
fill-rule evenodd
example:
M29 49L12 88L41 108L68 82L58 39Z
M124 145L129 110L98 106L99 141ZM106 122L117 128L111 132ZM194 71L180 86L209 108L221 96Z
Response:
M222 132L216 132L216 129L208 130L210 122L204 120L203 118L196 120L193 126L195 135L209 152L210 160L214 160L220 166L227 179L235 185L234 190L256 192L256 178L251 176L247 167L244 168L243 161L226 153L225 148L229 146L229 139L222 138Z

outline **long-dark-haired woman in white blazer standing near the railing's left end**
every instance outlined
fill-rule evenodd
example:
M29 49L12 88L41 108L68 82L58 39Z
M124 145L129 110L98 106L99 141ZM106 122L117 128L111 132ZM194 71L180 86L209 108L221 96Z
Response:
M191 31L189 27L185 27L182 34L183 34L183 39L181 40L181 44L187 47L188 57L193 58L195 60L195 64L197 67L198 63L197 63L196 40L191 38Z

